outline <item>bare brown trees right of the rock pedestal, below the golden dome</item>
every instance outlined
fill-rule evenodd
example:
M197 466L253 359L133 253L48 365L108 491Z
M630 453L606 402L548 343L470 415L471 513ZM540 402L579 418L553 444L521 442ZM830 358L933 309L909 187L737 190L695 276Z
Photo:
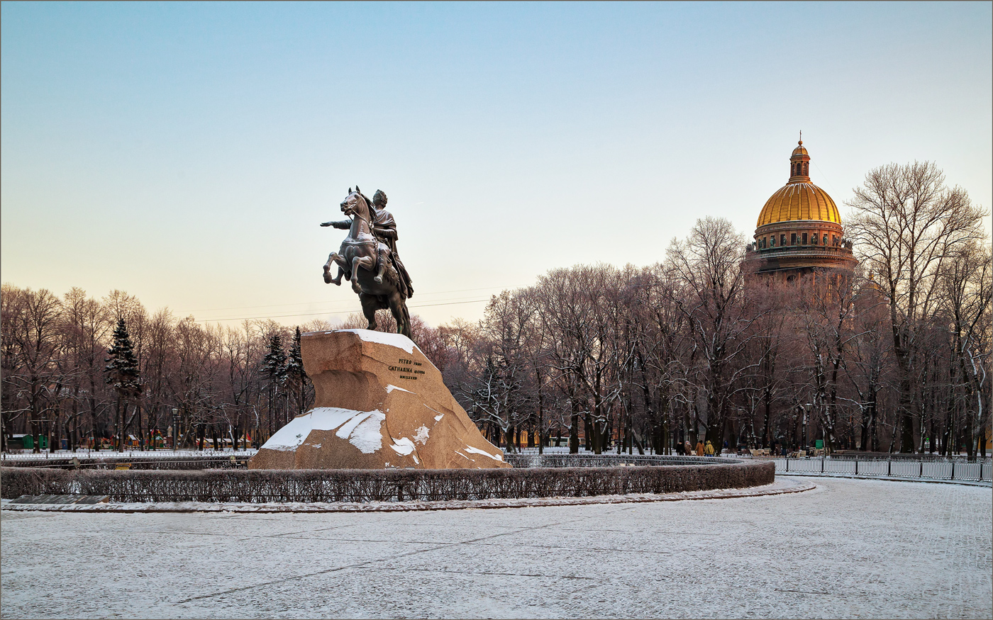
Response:
M849 205L854 275L750 274L744 236L704 218L662 263L554 270L495 297L480 325L442 327L446 376L510 446L526 430L573 451L582 436L598 452L698 439L985 452L984 213L929 163L872 171Z

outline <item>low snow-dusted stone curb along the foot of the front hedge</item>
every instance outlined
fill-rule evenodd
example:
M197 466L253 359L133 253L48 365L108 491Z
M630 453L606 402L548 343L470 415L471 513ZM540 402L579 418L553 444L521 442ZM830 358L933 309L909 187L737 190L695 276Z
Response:
M594 497L543 497L499 500L451 500L445 502L343 502L343 503L106 503L106 504L12 504L3 500L0 509L7 512L85 512L85 513L329 513L329 512L411 512L419 510L466 510L485 508L529 508L540 506L580 506L586 504L639 504L646 502L677 502L700 499L732 499L800 493L816 488L812 482L780 478L772 484L744 489L684 491L682 493L633 493L630 495L600 495Z

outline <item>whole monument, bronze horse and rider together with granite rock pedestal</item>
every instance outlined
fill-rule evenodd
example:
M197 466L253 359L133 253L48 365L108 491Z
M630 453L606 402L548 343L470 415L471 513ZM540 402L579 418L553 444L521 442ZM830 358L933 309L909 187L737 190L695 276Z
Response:
M508 467L445 387L441 372L411 339L410 276L396 252L396 222L386 194L370 201L355 186L341 203L347 229L324 265L324 281L344 276L358 294L368 329L301 336L314 409L273 434L251 469L423 469ZM338 275L331 276L337 265ZM390 310L399 333L375 331L376 310Z

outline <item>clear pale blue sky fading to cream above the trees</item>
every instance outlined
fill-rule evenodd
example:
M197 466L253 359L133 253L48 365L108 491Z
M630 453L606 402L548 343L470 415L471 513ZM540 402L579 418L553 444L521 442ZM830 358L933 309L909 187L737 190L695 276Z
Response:
M389 194L411 310L475 319L703 215L751 234L800 129L839 206L932 160L989 209L991 7L4 2L2 280L341 316L318 223L357 184Z

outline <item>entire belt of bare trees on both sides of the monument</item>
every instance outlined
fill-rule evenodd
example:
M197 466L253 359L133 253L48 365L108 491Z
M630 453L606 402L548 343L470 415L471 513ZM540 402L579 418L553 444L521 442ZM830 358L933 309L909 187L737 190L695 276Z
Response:
M872 171L849 202L855 274L760 277L745 237L703 218L643 268L557 269L479 323L414 339L491 440L668 452L716 446L984 450L991 257L984 213L928 163ZM4 285L3 447L130 434L260 444L310 407L300 331L201 325L125 293ZM382 329L394 328L386 316ZM345 327L364 326L355 314Z

